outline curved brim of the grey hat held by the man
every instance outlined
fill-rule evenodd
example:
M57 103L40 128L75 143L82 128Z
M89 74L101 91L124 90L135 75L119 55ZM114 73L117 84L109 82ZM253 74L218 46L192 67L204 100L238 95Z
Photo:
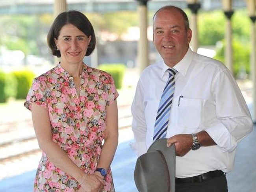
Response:
M167 145L167 138L160 138L151 144L147 152L159 150L163 153L165 160L167 162L169 175L170 175L170 184L171 184L170 192L175 192L175 161L176 161L175 145L172 144L170 147L167 147L166 145Z

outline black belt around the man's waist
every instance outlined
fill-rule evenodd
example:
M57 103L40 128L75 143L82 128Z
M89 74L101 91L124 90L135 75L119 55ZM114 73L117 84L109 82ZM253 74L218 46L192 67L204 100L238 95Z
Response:
M223 171L221 170L216 170L216 171L210 171L202 175L197 175L194 177L186 177L186 178L175 178L175 183L180 184L180 183L201 183L203 181L210 180L214 177L220 177L222 175L226 175Z

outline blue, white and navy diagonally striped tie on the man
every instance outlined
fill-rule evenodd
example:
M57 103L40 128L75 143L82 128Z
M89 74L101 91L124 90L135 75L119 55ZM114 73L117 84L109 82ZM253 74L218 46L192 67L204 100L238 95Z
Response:
M177 71L173 68L169 68L167 69L167 72L169 72L169 79L165 85L165 89L163 89L163 94L161 96L161 100L159 103L153 142L158 140L159 138L165 138L167 133L168 121L171 111L171 104L173 102L173 94L175 87L174 76Z

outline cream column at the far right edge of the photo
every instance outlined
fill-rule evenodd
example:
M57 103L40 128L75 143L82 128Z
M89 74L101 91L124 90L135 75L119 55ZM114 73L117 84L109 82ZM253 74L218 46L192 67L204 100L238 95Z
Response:
M253 92L253 110L252 110L252 120L254 123L256 123L256 37L255 37L255 20L256 20L256 15L255 15L255 0L247 0L247 9L249 13L249 17L251 22L251 42L252 42L252 52L250 56L250 79L252 80L252 92Z

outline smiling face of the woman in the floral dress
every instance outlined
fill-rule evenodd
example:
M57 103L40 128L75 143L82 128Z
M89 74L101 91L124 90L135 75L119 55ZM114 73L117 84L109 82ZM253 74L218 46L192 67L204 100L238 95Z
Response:
M82 63L91 41L91 35L87 37L76 26L66 24L61 28L58 39L54 41L60 51L61 62Z

